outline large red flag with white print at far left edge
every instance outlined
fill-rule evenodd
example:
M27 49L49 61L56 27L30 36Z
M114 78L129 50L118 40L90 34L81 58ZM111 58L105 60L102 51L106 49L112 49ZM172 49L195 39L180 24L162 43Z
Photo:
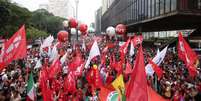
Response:
M23 25L8 41L3 44L0 59L0 70L13 60L22 59L27 55L26 32Z

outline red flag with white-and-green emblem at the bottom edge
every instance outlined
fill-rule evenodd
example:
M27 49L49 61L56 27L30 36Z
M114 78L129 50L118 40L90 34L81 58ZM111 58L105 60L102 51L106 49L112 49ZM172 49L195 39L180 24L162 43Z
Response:
M113 91L105 87L101 87L100 93L98 96L100 101L120 101L120 97L117 91Z

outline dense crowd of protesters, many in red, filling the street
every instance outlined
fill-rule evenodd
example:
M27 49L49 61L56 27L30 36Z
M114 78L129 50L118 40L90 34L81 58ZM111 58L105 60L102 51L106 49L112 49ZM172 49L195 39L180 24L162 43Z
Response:
M87 43L87 42L86 42ZM102 51L105 47L105 42L100 42L99 47ZM83 69L82 75L75 77L76 91L64 92L64 78L69 73L68 63L76 56L77 51L82 55L83 60L88 57L87 51L81 48L79 44L75 48L73 45L67 45L58 48L59 54L67 52L67 59L64 65L62 65L62 72L56 77L56 80L52 81L50 85L54 91L54 101L98 101L98 91L93 91L92 86L88 83L87 73L88 69ZM137 50L137 49L135 49ZM116 78L116 71L110 66L110 55L114 54L116 61L119 61L119 53L117 44L106 55L105 65L100 65L99 58L91 62L98 65L102 76L102 82L104 85L110 85ZM146 57L154 57L156 54L155 49L144 47L145 64L147 64ZM130 57L128 57L130 58ZM40 53L40 46L33 46L27 51L27 58L23 60L13 61L7 65L5 69L0 73L0 101L23 101L26 98L26 87L28 75L30 72L34 75L35 87L37 92L37 99L40 101L43 99L41 88L39 84L39 71L43 68L34 68L38 59L41 59L42 65L46 59L48 59L47 53ZM131 64L135 60L135 56L132 57ZM48 64L51 65L51 62ZM125 69L125 65L123 66ZM132 64L133 67L133 64ZM162 78L158 79L156 75L147 77L147 82L157 91L161 96L172 101L199 101L201 99L201 70L198 65L198 75L195 78L191 78L185 67L185 64L178 59L177 52L173 48L169 48L164 61L161 63L160 68L163 70ZM124 75L125 83L129 80L127 75Z

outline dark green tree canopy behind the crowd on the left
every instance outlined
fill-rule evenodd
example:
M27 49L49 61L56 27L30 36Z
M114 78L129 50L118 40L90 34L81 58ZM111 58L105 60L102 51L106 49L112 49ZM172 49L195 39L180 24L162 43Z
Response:
M0 12L0 36L4 38L11 37L23 24L26 25L28 39L56 35L63 29L64 18L54 16L45 9L30 12L9 0L0 0Z

